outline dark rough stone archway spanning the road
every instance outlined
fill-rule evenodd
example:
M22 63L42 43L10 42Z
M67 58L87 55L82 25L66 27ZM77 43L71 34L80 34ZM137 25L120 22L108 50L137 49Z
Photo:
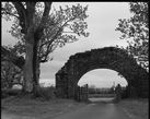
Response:
M148 97L148 72L137 64L125 50L115 47L92 49L79 52L69 58L56 73L56 94L61 98L76 98L80 78L94 69L111 69L119 72L134 87L138 97ZM131 96L131 93L128 94Z

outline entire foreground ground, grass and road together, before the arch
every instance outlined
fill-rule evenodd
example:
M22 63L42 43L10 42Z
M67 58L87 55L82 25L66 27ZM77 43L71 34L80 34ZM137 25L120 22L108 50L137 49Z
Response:
M93 104L84 104L69 99L11 98L2 100L1 119L148 119L148 102L113 104L105 98L92 100Z

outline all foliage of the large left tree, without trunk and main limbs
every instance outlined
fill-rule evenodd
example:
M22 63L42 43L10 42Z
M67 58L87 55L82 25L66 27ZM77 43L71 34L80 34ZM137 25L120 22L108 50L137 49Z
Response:
M7 7L5 7L7 5ZM11 11L8 9L12 8L11 3L7 2L4 4L7 13ZM3 8L4 8L3 7ZM37 2L36 13L35 13L35 25L38 26L41 19L43 16L43 4ZM53 52L57 47L62 47L66 43L73 43L79 39L80 36L88 37L89 33L85 32L88 24L85 22L86 7L80 4L65 8L59 7L58 10L54 9L49 14L46 26L44 28L44 34L38 44L38 58L41 62L46 62L49 59L49 53ZM4 15L5 16L5 15ZM4 17L5 19L5 17ZM14 50L18 50L20 55L25 53L25 40L24 34L21 32L19 19L14 16L13 24L10 33L12 36L20 39L20 41L14 45Z

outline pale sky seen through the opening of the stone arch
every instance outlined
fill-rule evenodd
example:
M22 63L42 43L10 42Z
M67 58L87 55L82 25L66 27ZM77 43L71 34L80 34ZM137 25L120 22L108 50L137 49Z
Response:
M114 70L94 69L83 74L79 80L78 86L82 86L84 84L97 88L109 88L112 86L116 86L117 84L126 87L128 82L123 75L119 75L118 72Z

